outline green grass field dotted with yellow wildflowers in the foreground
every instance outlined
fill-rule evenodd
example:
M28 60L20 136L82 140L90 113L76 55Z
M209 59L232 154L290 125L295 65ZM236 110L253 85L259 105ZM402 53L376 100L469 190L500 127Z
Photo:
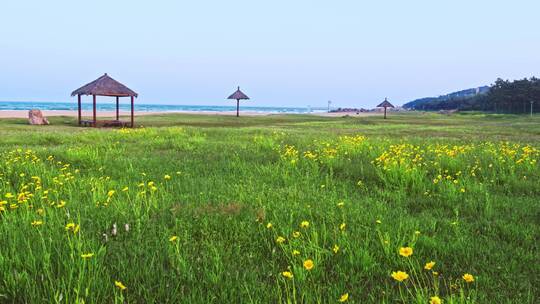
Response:
M0 120L0 303L540 297L540 116L51 122Z

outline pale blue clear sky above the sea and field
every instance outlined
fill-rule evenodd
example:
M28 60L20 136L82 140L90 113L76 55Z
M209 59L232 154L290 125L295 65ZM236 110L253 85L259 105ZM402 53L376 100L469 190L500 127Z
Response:
M374 107L540 76L540 1L3 0L0 100Z

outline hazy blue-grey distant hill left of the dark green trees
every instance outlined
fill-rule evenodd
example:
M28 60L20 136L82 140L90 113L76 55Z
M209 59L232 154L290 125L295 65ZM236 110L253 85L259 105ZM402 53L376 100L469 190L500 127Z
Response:
M411 110L451 110L463 108L468 102L473 102L475 97L484 95L490 90L489 86L453 92L439 97L425 97L415 99L403 105L405 109Z

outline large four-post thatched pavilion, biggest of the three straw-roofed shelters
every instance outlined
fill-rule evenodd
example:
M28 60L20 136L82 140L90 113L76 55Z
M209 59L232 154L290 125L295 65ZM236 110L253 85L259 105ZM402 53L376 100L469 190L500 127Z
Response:
M131 127L133 128L134 122L134 98L139 95L135 91L121 84L120 82L112 79L107 73L98 79L82 86L81 88L73 91L71 96L77 96L78 100L78 109L79 109L79 125L92 125L96 126L96 96L109 96L116 97L116 120L107 122L110 125L120 125L124 126L125 123L119 120L119 111L120 111L120 97L130 97L131 98ZM84 121L81 119L81 96L82 95L92 95L93 99L93 120Z

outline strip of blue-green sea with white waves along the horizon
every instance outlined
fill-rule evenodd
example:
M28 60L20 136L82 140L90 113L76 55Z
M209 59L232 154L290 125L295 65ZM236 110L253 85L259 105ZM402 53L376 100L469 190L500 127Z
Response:
M83 111L91 111L92 103L83 102ZM98 102L98 111L114 111L115 102ZM0 110L67 110L76 111L76 102L34 102L34 101L0 101ZM120 101L120 110L129 111L129 102ZM231 106L197 106L197 105L166 105L166 104L140 104L135 103L136 112L223 112L236 111L236 105ZM325 108L316 107L254 107L240 105L240 111L274 114L308 114L326 112Z

